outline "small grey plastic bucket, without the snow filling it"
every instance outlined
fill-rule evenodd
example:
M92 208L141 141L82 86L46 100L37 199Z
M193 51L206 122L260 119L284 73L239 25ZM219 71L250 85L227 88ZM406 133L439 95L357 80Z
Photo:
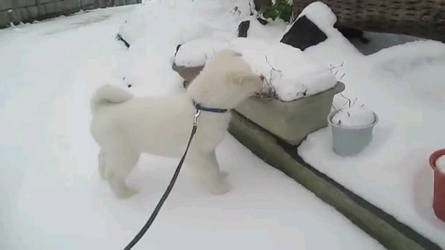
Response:
M334 152L339 156L353 156L360 153L373 138L373 128L378 123L378 115L374 113L375 120L365 126L339 126L333 124L331 119L337 111L327 116L327 122L332 128Z

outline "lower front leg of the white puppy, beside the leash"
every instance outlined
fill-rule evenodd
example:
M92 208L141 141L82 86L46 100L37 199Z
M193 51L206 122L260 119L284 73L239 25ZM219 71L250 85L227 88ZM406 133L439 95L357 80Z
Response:
M198 180L212 194L225 194L230 191L229 184L225 180L227 174L220 172L215 151L204 153L191 150L187 156L187 163L195 172Z

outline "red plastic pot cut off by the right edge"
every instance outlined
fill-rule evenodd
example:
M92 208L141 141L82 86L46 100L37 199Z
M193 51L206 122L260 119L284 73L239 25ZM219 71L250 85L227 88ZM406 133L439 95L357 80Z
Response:
M439 149L431 154L430 166L434 170L434 198L432 208L436 216L445 222L445 174L436 167L436 160L445 155L445 149Z

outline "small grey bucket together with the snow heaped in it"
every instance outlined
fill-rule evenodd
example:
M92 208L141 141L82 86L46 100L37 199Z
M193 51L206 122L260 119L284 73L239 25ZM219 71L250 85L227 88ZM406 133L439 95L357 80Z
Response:
M378 116L364 105L353 103L331 113L327 122L332 128L334 152L339 156L353 156L371 142Z

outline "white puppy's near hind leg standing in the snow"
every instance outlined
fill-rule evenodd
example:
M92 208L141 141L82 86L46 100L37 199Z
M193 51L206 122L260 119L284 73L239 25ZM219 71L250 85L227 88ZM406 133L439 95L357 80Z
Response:
M139 156L139 152L131 149L106 152L106 178L116 197L124 199L137 193L136 190L127 187L125 178L136 167Z

